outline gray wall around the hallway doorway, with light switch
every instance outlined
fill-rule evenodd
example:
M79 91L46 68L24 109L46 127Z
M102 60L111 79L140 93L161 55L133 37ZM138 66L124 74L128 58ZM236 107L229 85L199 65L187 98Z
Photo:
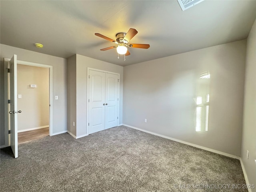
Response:
M25 49L20 49L4 44L1 48L1 84L4 70L3 58L12 58L14 54L17 55L18 60L35 62L53 66L53 134L64 132L67 130L67 60L65 58L50 56L38 52L33 52ZM1 86L1 94L4 92ZM54 96L58 96L58 100ZM2 107L4 107L4 100L1 97L1 116ZM4 138L4 126L1 119L1 145L2 138Z

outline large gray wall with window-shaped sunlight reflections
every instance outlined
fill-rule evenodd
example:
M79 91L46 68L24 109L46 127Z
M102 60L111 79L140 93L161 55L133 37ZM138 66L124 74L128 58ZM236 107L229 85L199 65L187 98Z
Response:
M125 66L123 123L240 156L245 55L242 40ZM207 71L208 131L196 132L194 99Z

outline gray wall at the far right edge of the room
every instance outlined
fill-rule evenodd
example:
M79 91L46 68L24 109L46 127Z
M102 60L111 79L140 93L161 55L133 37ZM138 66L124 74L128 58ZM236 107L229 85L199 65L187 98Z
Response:
M249 183L256 184L256 20L247 38L241 159ZM251 191L256 192L256 188Z

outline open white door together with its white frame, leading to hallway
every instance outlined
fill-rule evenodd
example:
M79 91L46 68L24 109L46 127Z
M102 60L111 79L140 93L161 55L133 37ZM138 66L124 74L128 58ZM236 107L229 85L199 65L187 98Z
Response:
M26 62L17 60L17 55L13 55L12 59L4 58L4 124L5 124L5 139L6 146L11 146L14 158L18 158L18 114L22 111L18 110L17 100L17 63L28 66L39 66L48 68L49 70L49 132L53 135L53 104L52 104L52 66L45 64L38 64L33 62ZM33 87L33 86L32 86ZM8 101L8 102L7 102ZM28 121L30 119L28 118Z

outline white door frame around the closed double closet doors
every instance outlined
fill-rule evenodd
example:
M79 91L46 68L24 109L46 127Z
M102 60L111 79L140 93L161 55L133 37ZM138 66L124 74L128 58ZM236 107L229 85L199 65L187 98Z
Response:
M119 119L120 119L120 115L119 115L119 106L120 106L120 74L119 73L115 73L115 72L110 72L110 71L105 71L105 70L100 70L100 69L96 69L96 68L90 68L87 67L87 98L86 98L86 134L88 135L89 132L89 126L88 126L88 121L89 121L89 70L94 70L94 71L98 71L98 72L104 72L104 73L110 73L110 74L115 74L118 75L118 120L117 120L117 126L119 125Z

